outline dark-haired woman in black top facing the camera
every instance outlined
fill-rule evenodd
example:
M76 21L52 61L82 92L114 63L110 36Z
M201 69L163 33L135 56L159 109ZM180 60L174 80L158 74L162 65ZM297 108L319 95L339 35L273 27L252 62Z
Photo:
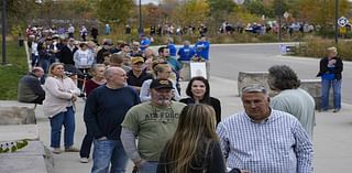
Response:
M210 97L210 85L209 82L201 77L193 77L186 89L188 98L183 98L179 101L186 105L191 104L207 104L210 105L216 111L217 125L221 121L221 104L218 98Z

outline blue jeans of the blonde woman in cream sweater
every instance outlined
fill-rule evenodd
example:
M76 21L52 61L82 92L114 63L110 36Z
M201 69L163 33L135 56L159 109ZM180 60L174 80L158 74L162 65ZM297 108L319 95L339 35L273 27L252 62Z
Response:
M51 120L51 147L59 148L62 127L65 127L64 132L64 143L65 148L72 147L74 144L74 133L75 133L75 111L73 107L67 107L67 111L59 112Z

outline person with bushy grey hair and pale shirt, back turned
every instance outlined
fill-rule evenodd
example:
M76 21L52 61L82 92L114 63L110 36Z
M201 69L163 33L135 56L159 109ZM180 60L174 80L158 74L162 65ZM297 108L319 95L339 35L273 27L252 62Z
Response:
M272 98L271 107L295 116L312 140L316 126L315 99L299 88L300 80L296 73L286 65L274 65L268 68L268 86L278 95Z

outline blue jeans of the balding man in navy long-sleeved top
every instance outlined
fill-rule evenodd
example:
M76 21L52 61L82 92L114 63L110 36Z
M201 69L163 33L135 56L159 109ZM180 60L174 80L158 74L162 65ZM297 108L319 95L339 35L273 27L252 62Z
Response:
M124 173L129 158L120 140L95 140L91 173Z

